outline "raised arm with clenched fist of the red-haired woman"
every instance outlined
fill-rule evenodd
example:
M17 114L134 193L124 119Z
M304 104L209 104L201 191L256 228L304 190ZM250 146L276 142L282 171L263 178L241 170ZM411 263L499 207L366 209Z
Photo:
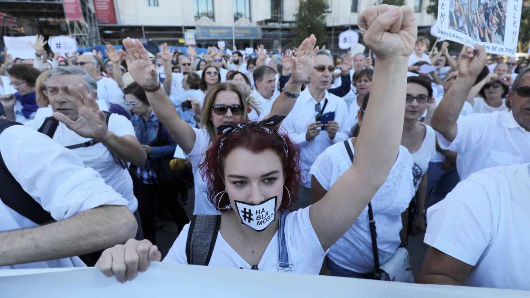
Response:
M403 130L408 57L418 35L408 6L369 7L359 16L359 28L377 64L354 162L309 210L324 250L351 227L394 165Z

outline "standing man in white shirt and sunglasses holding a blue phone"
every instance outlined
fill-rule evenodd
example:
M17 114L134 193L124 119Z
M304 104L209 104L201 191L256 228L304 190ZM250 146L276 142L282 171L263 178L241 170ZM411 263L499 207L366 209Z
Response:
M328 92L333 68L333 58L329 52L319 51L315 56L309 86L300 94L293 110L281 123L282 128L301 148L302 182L298 198L294 204L291 204L294 210L310 204L311 175L309 169L316 157L329 146L344 141L349 136L346 102ZM325 125L316 121L316 116L328 112L335 112L333 121Z

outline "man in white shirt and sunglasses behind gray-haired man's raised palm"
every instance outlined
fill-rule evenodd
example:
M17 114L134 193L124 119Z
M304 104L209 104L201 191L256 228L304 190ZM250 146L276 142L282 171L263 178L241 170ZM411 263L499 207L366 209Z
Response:
M100 100L104 100L108 107L112 104L123 106L125 99L120 86L115 80L101 75L101 65L98 58L91 53L83 53L77 57L77 65L81 66L98 83L98 98ZM126 109L126 111L128 110Z

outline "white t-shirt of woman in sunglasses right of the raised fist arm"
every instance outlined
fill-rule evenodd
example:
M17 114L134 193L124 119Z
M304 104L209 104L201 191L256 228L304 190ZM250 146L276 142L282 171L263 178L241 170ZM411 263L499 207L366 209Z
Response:
M429 161L434 157L436 153L436 132L430 127L430 125L424 124L426 133L421 147L418 151L411 153L414 166L412 167L412 175L414 176L414 186L418 190L418 186L421 182L421 177L427 173L429 168Z

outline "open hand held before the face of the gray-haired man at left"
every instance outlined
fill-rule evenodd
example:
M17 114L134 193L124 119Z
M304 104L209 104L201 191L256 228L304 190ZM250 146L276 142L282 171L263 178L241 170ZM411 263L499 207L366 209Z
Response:
M103 141L107 136L108 129L105 122L105 113L103 113L96 103L96 94L89 94L83 84L77 87L68 86L68 91L75 97L77 103L77 120L68 118L63 113L55 112L54 118L63 122L66 127L75 131L81 137L92 138L96 141Z

